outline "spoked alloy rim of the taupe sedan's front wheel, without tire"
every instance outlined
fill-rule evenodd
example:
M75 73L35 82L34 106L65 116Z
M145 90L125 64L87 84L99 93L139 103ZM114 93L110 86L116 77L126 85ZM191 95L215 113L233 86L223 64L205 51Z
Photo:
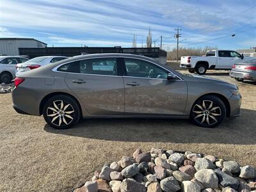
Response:
M192 112L196 122L206 125L218 123L218 116L221 116L220 106L212 100L203 100L201 104L195 104Z

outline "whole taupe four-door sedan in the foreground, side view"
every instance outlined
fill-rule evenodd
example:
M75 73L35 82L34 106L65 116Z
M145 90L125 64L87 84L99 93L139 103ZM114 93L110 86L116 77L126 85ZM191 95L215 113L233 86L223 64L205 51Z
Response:
M190 118L216 127L241 106L233 84L131 54L76 56L20 73L12 100L18 113L43 115L56 129L95 117Z

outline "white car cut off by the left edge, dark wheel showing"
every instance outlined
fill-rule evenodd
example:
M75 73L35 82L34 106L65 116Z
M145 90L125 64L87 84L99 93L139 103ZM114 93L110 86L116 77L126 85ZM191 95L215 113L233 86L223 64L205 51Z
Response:
M0 83L11 83L15 78L15 66L28 61L20 56L0 56Z

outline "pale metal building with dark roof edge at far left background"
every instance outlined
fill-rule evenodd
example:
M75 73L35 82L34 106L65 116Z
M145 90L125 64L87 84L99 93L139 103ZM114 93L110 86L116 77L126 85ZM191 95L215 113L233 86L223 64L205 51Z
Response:
M19 55L19 48L47 47L35 38L0 38L0 55Z

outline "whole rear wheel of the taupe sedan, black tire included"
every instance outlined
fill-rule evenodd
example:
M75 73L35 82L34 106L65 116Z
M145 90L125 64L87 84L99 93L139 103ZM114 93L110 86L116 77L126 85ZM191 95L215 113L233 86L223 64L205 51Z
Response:
M61 101L63 104L61 104ZM70 113L70 111L73 112ZM72 97L56 95L45 102L43 115L45 122L51 127L55 129L68 129L79 122L81 110L77 101Z

